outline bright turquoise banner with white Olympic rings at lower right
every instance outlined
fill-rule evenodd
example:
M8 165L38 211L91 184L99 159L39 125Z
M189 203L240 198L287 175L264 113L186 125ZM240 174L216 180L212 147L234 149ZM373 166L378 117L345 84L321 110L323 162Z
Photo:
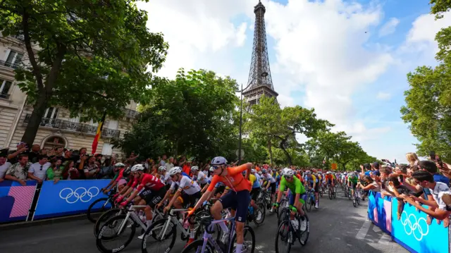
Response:
M392 237L410 252L449 252L450 239L448 228L433 219L431 225L426 223L426 214L416 211L410 204L404 204L400 220L397 219L398 203L392 203Z

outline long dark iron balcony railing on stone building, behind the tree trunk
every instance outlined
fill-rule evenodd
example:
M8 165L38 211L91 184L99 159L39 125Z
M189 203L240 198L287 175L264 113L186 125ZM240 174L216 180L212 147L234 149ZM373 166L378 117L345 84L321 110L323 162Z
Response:
M31 114L25 115L25 120L23 121L24 125L27 125L30 121ZM39 124L45 128L56 128L60 130L72 131L72 132L84 132L88 135L95 135L97 132L97 126L95 125L87 125L83 123L75 123L70 121L63 121L60 119L54 118L42 118L41 123ZM120 130L114 130L110 128L102 128L101 137L118 138L121 134Z

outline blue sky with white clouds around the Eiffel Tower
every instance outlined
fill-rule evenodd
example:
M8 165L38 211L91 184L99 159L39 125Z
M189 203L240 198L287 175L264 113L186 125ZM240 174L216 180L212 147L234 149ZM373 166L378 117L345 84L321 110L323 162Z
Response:
M150 0L148 27L170 48L158 75L205 68L247 84L257 0ZM379 159L405 161L416 139L400 118L406 74L434 65L426 0L263 0L271 75L282 106L314 107ZM299 141L305 138L300 136Z

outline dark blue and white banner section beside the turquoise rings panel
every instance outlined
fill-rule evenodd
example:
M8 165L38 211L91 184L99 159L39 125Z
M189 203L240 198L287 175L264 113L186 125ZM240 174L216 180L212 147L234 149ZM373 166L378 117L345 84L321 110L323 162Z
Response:
M381 192L369 192L368 218L390 235L392 231L392 202L390 197L381 197Z

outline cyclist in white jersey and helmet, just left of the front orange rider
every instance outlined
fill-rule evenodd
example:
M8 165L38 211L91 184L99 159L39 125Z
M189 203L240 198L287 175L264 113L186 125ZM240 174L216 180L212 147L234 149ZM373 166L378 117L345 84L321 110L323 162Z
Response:
M168 199L169 195L171 195L172 192L175 191L175 185L178 186L177 192L173 195L171 198L171 201L169 204L164 208L164 212L167 213L172 206L175 206L177 209L181 209L183 204L189 204L189 207L194 207L194 204L199 200L201 194L200 194L200 187L197 185L197 182L192 180L187 175L182 174L182 168L180 167L173 167L169 171L169 175L171 175L171 179L173 181L170 190L166 192L166 195L164 195L161 202L158 204L158 207L160 207L163 202ZM180 195L181 198L179 197ZM190 238L188 239L188 242L186 245L189 245L191 242L194 241L194 222L190 222ZM186 247L185 245L185 247Z

